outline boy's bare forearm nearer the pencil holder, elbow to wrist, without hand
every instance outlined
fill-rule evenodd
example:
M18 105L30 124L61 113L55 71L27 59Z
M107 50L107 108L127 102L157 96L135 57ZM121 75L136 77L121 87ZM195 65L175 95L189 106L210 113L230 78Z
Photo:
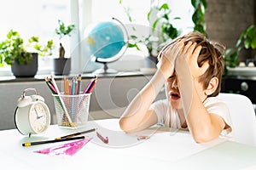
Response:
M119 125L122 130L126 133L134 133L157 123L157 116L153 110L149 109L149 106L153 103L164 82L160 71L156 71L154 77L132 99L120 117Z

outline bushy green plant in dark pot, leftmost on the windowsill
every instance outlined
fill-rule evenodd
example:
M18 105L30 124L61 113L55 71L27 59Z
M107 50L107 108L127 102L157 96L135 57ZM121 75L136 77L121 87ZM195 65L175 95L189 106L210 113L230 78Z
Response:
M50 55L52 47L53 40L43 46L38 37L30 37L25 43L18 31L10 30L0 42L0 65L11 65L15 77L34 77L38 71L38 55Z

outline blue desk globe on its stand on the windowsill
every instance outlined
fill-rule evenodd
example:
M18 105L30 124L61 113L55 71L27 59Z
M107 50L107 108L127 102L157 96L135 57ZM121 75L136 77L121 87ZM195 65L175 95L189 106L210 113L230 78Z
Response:
M128 41L128 35L126 37ZM94 26L88 33L86 42L89 44L91 59L104 64L101 73L108 73L107 63L119 59L127 48L123 29L113 21L100 22Z

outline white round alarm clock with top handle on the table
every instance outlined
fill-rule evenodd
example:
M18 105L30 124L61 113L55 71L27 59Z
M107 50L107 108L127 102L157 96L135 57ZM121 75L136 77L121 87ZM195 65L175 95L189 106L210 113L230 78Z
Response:
M27 91L36 94L26 96ZM50 112L35 88L26 88L17 101L15 110L15 126L21 134L32 135L44 133L49 127Z

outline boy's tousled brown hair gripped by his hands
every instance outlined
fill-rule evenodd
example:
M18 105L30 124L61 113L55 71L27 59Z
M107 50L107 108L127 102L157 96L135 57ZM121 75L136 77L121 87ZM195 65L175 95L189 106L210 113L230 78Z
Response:
M209 82L212 77L218 78L218 88L215 92L209 96L217 96L220 93L221 80L224 72L224 44L219 42L210 42L203 34L197 31L190 32L179 39L185 39L185 45L188 42L196 42L197 45L201 45L201 52L197 59L197 64L201 67L205 62L208 63L209 67L207 71L199 77L199 82L202 82L203 88L207 89Z

